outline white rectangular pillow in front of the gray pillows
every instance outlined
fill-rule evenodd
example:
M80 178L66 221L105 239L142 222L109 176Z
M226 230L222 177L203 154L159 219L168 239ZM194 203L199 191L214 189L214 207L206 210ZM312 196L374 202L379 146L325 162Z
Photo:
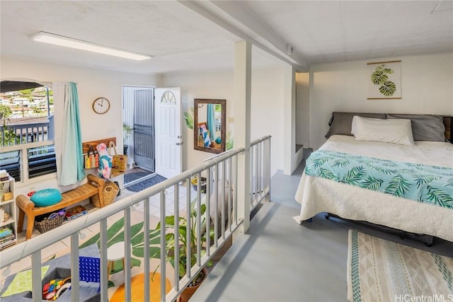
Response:
M381 120L369 117L352 117L351 133L357 141L413 146L411 120Z

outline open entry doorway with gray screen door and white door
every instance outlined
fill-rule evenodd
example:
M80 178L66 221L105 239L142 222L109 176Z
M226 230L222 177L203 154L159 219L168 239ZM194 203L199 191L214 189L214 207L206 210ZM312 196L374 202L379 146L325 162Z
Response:
M125 184L182 172L180 88L122 86L123 133L130 169ZM126 147L127 146L127 147Z

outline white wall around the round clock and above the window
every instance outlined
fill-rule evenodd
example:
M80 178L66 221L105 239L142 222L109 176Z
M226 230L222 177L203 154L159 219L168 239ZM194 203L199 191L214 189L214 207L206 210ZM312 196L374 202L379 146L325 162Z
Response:
M161 76L1 57L0 78L77 83L83 141L116 137L117 146L122 146L122 85L159 86ZM96 114L91 107L93 100L99 97L110 100L110 110L103 115ZM122 148L118 151L122 151ZM38 184L35 190L39 189Z

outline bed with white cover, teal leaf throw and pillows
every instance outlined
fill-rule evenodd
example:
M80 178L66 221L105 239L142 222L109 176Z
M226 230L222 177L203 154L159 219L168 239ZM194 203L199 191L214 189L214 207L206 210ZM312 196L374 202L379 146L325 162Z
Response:
M389 121L391 119L395 120ZM396 120L406 121L405 132L411 132L409 138L401 139L401 133L394 134L393 128L387 125L380 128L383 123ZM365 121L365 128L357 121ZM370 126L367 124L370 121L377 124ZM294 219L298 223L326 212L342 219L367 221L403 232L453 241L453 144L445 139L451 139L451 117L333 112L329 124L328 140L307 159L306 170L297 188L295 199L301 204L301 211ZM396 141L386 141L389 137L392 140L392 136ZM406 178L403 172L411 173L413 169L428 170L418 178L407 178L407 183L403 184L406 189L411 187L406 191L414 190L411 197L399 194L401 192L386 192L390 180L369 187L363 185L365 176L364 180L357 181L358 185L345 182L346 173L352 169L348 166L349 161L355 162L356 168L372 173L379 172L379 167L395 165L394 175L389 175L389 178L397 175ZM334 165L343 169L337 171L337 175L331 172ZM400 165L406 166L401 168ZM314 168L319 168L325 175L316 175ZM387 173L385 169L381 172ZM366 175L366 178L374 179L374 175ZM415 191L416 187L423 185L424 189L420 189L425 190L423 193ZM379 186L381 188L377 189ZM441 204L433 198L437 193ZM431 242L425 243L429 245Z

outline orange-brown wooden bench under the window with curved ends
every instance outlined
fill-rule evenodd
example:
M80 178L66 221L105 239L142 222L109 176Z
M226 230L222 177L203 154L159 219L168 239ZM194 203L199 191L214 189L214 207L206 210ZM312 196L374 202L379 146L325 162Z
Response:
M96 194L98 194L99 202L101 203L101 207L103 207L103 186L104 180L102 178L98 178L95 175L88 175L88 182L85 185L62 193L63 198L61 202L47 207L35 207L35 203L28 197L22 194L18 195L18 197L16 197L16 204L19 208L18 233L22 232L25 215L27 215L27 231L25 233L25 238L28 240L31 238L33 227L35 226L35 217L38 215L53 213L88 198L90 199L90 202L92 202L91 197Z

